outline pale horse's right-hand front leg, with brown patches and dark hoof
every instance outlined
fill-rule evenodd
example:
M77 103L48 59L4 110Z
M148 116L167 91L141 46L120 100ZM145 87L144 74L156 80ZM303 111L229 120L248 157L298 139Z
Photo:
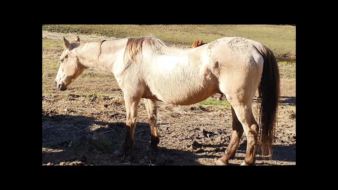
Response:
M143 98L143 101L147 110L148 123L151 130L151 141L147 150L153 151L157 149L157 145L160 143L160 135L157 128L157 101L145 98Z

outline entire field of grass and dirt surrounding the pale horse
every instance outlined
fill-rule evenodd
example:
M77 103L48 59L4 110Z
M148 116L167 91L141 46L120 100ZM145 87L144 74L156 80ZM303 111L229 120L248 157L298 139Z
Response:
M150 141L146 110L140 104L135 147L124 158L112 156L125 137L122 91L114 77L95 70L85 71L67 91L57 91L53 79L62 53L62 36L81 41L101 41L147 35L187 48L195 40L210 42L223 36L240 36L264 43L277 55L295 55L296 29L276 25L44 25L42 31L42 164L43 165L214 165L228 145L231 130L230 104L216 99L190 106L159 103L159 152L145 151ZM75 33L76 32L76 33ZM279 127L272 160L258 165L296 164L296 67L280 62L281 104ZM224 98L223 98L224 99ZM257 117L256 100L254 114ZM237 157L245 156L243 136Z

